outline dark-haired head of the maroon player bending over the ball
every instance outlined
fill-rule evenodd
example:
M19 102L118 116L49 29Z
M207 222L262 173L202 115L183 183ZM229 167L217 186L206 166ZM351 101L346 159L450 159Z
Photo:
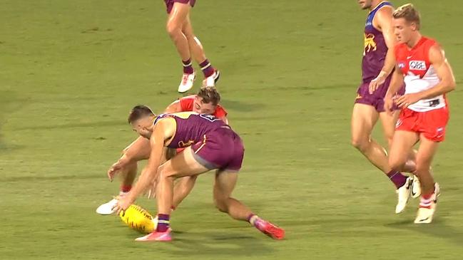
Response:
M151 108L148 108L146 105L136 105L128 114L127 120L138 135L149 138L153 132L154 118L156 118L156 115Z

